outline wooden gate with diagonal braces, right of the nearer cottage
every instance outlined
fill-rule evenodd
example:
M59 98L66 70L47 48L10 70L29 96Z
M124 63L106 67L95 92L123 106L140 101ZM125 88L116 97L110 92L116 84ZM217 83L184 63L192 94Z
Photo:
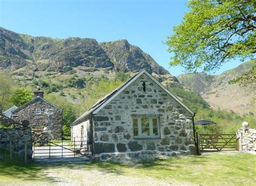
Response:
M198 134L199 148L238 150L237 134Z

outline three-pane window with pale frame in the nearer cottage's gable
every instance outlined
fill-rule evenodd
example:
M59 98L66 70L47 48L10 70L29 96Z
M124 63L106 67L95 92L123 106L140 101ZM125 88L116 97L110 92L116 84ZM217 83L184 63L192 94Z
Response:
M158 117L132 117L134 138L160 138Z

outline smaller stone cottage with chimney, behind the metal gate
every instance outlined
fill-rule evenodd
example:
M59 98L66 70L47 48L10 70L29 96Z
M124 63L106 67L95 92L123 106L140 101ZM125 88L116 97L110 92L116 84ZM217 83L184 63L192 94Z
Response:
M46 101L44 92L34 91L34 97L28 103L12 111L12 119L22 123L29 121L33 138L39 138L43 134L44 138L52 140L62 139L62 109Z

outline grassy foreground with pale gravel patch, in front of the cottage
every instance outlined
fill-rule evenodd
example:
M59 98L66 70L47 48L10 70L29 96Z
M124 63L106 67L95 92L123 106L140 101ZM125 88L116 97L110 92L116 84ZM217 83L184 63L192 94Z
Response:
M123 185L256 185L256 156L211 153L150 162L49 163L0 162L0 185L123 184Z

